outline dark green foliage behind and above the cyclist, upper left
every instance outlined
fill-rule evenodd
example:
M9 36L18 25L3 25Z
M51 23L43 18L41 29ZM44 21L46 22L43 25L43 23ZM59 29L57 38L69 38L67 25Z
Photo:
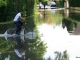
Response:
M24 10L24 16L33 15L36 2L37 0L0 0L0 22L13 20L20 9Z

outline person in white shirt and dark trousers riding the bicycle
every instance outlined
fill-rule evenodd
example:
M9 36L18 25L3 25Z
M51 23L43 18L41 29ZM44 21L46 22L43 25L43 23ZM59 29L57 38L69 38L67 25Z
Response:
M14 17L14 23L16 24L16 34L20 34L21 31L21 27L23 26L23 22L22 20L25 20L25 18L23 18L21 15L23 13L23 10L20 10L16 16Z

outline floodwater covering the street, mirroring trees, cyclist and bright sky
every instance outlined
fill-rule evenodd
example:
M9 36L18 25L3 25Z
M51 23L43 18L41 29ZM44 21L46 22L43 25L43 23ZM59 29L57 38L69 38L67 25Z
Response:
M0 37L0 60L80 60L80 14L68 9L39 10L33 31ZM3 25L2 25L3 26ZM14 27L12 25L12 27ZM47 48L46 48L47 47Z

